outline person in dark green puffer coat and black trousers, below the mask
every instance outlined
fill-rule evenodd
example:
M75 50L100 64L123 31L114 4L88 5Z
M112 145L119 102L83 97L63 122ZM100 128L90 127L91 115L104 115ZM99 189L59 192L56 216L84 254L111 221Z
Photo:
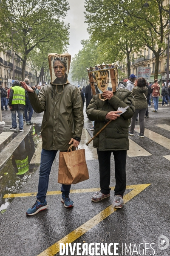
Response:
M109 120L113 120L95 139L93 147L97 148L100 173L100 191L92 197L92 201L98 202L110 196L111 177L111 153L115 160L115 198L114 207L122 208L123 194L126 189L126 154L129 149L128 119L134 112L132 93L126 89L119 88L115 93L105 91L102 94L105 101L94 95L87 108L87 115L94 122L94 135ZM125 113L117 111L119 107L127 108ZM119 115L122 113L121 115Z

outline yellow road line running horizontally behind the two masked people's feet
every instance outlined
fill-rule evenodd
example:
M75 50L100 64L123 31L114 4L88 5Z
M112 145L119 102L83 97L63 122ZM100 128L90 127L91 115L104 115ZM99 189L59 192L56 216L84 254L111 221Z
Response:
M126 189L135 189L136 185L126 186ZM114 190L114 187L111 187ZM99 191L100 188L93 188L93 189L72 189L70 190L71 194L74 193L88 193L88 192L96 192ZM61 195L61 191L48 191L46 195ZM3 198L17 198L17 197L28 197L28 196L36 196L37 192L32 193L20 193L20 194L5 194Z

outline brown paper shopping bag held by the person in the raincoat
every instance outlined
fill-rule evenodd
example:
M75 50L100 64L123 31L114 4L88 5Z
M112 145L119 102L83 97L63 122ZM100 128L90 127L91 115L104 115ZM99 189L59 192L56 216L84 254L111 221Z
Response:
M69 149L72 148L71 145ZM77 184L88 180L88 167L85 161L85 149L71 152L59 152L58 183L65 185Z

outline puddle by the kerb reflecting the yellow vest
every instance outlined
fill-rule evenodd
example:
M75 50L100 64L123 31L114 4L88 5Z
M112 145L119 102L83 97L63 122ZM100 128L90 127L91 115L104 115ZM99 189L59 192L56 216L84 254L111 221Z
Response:
M34 125L0 170L0 212L6 209L14 198L3 198L5 194L18 193L31 178L39 164L30 164L40 142L41 125ZM1 212L2 213L2 212Z

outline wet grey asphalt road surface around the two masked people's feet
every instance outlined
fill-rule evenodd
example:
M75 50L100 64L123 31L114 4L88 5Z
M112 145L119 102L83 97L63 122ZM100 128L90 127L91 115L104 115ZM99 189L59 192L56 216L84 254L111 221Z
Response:
M158 113L151 113L150 110L150 117L145 120L145 128L170 139L169 131L155 126L156 124L170 125L169 116L170 107L160 107ZM39 126L41 120L42 114L38 118L35 114L34 122L37 126ZM139 125L139 122L136 122L136 125ZM91 122L88 121L86 116L84 127L92 136L92 132L89 131ZM36 129L38 134L39 130L38 128ZM126 243L127 247L131 244L132 248L131 253L126 255L169 256L170 245L165 250L161 250L163 245L159 249L159 244L162 240L159 239L159 236L164 235L170 239L170 162L163 157L170 155L170 150L166 148L166 145L161 146L147 137L139 138L137 134L135 131L134 136L130 137L130 139L152 155L127 157L127 185L150 183L150 186L134 196L122 209L113 212L108 218L99 222L74 242L86 242L88 244L119 243L117 251L119 255L125 255L125 252L124 254L122 253L122 243ZM31 132L27 136L30 137ZM26 150L30 150L30 143L29 138ZM35 147L37 143L37 141L34 142ZM32 149L32 155L34 154L33 151ZM57 183L58 156L59 154L57 153L51 169L48 191L59 191L61 188L61 185ZM71 189L99 187L98 161L87 160L87 165L90 179L77 185L72 185ZM7 167L5 166L4 168ZM13 166L11 165L10 168L12 169ZM33 171L31 173L27 172L23 176L22 186L17 187L16 184L19 183L17 179L11 185L11 187L16 187L12 193L37 191L39 165L30 165L30 169L33 169ZM6 170L4 172L7 172ZM113 170L114 160L111 157L111 186L115 186ZM0 174L4 172L1 170ZM14 175L15 173L13 172ZM27 176L28 178L26 178ZM8 181L8 183L10 182ZM7 187L10 187L9 184ZM4 193L9 193L8 188ZM126 193L130 191L127 189ZM48 209L34 216L26 216L25 212L28 207L34 204L35 197L20 197L14 198L14 200L0 198L3 204L4 201L6 203L9 202L6 212L0 215L0 256L38 256L45 249L93 218L113 202L113 190L110 198L98 203L91 201L93 194L94 192L71 194L70 197L74 201L74 207L70 209L63 207L60 201L61 195L48 195ZM147 244L147 247L150 248L144 254L142 254L142 250L140 250L141 254L139 254L139 244L141 243ZM165 241L164 245L166 243L167 241ZM150 244L152 244L155 253ZM133 250L134 248L137 248L137 251ZM71 255L71 253L69 252L68 255ZM74 253L74 255L77 255L77 253Z

